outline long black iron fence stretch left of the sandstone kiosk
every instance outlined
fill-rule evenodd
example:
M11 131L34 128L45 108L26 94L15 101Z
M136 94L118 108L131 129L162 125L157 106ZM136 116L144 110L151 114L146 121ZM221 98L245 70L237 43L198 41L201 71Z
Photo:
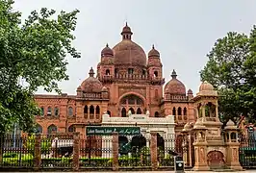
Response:
M151 136L81 136L79 159L75 160L75 138L71 135L53 136L2 136L0 167L8 168L73 168L79 161L80 168L113 168L113 143L118 142L119 168L150 168L152 165ZM154 140L155 141L155 140ZM157 135L157 165L160 168L174 166L174 156L188 153L188 141L183 136ZM153 157L154 158L154 157ZM38 164L37 164L38 161ZM116 158L115 158L116 161Z

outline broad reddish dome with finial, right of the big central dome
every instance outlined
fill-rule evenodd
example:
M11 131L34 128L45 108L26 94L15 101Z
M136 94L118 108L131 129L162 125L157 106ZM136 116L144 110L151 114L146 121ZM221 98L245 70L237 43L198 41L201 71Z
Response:
M165 91L167 89L166 93L170 94L177 94L177 95L186 95L186 87L182 82L177 80L177 74L175 70L171 73L171 80L166 84Z

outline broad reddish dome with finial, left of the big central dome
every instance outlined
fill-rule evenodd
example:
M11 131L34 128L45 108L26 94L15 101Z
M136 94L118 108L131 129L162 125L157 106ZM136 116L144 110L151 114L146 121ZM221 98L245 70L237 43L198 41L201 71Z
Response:
M90 77L81 85L82 90L84 92L101 92L103 86L97 78L94 78L94 71L92 67L90 68L89 75Z

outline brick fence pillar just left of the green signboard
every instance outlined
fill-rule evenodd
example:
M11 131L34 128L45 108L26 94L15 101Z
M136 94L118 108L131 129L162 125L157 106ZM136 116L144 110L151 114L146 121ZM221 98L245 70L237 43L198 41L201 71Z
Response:
M73 135L73 170L79 170L79 157L80 157L80 133L76 132Z

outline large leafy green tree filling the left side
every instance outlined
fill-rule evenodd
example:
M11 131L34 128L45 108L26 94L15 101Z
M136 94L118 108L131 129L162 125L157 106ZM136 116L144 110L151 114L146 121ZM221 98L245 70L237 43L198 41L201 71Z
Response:
M31 130L39 112L33 97L38 86L60 93L57 83L68 80L65 58L80 58L71 45L78 10L56 16L55 11L42 8L22 23L13 3L0 0L0 133L13 123Z

